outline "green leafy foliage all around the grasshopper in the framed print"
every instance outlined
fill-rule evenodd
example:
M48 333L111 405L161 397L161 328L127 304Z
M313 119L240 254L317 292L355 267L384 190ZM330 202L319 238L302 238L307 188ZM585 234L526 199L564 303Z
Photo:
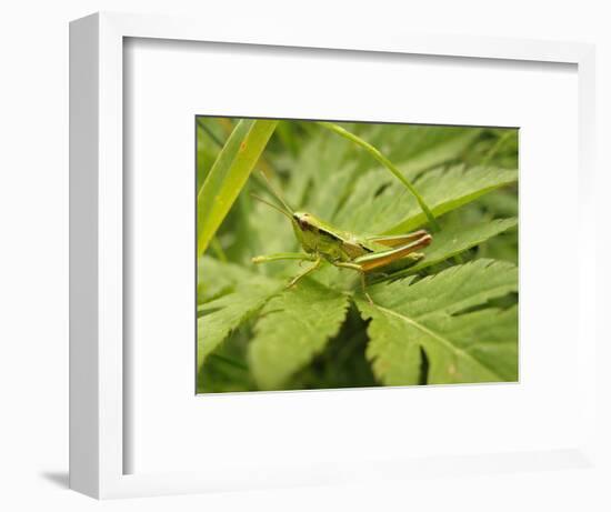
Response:
M254 121L198 119L199 183L228 175L223 153L234 153L244 122ZM379 150L430 207L441 229L425 258L370 275L373 307L358 274L331 264L286 289L299 262L254 265L251 258L300 251L290 223L251 200L250 192L266 194L251 168L237 181L220 178L214 188L236 202L199 259L198 391L517 380L518 131L342 127ZM267 130L259 163L250 162L294 209L361 235L427 224L413 194L363 145L312 122ZM200 223L212 204L203 188Z

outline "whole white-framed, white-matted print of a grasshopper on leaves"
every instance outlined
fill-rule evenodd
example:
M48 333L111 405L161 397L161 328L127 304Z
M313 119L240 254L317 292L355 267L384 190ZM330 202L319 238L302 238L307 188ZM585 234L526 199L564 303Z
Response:
M592 47L104 13L70 88L72 489L597 464Z

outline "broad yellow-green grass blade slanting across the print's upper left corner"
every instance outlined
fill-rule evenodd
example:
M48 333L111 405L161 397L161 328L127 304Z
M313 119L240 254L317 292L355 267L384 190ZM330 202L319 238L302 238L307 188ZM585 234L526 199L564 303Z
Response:
M221 225L278 121L242 119L234 128L198 193L198 257Z

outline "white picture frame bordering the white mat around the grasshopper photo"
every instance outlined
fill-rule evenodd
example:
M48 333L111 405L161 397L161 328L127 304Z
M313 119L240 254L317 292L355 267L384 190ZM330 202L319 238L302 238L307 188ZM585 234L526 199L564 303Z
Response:
M93 14L70 26L70 486L96 498L258 489L317 482L359 481L365 473L315 468L234 482L211 482L203 473L183 471L124 474L126 429L132 399L123 386L123 90L127 38L202 41L281 48L332 49L377 54L488 59L491 61L575 64L579 81L579 215L593 208L594 49L590 44L425 34L312 33L279 28L277 33L236 32L230 26L208 27L193 20L139 14ZM348 53L347 53L348 54ZM224 112L219 112L224 113ZM129 199L129 198L128 198ZM579 222L580 237L595 239L594 222ZM591 378L579 390L584 400L583 431L578 445L543 456L522 453L424 454L418 461L385 461L373 471L384 478L409 478L435 461L443 474L495 470L574 468L594 464L595 252L580 253L580 360ZM354 391L359 393L361 391ZM363 393L365 391L362 391ZM236 404L234 406L238 406ZM581 432L581 431L580 431ZM314 474L315 473L315 474ZM224 481L223 481L224 482Z

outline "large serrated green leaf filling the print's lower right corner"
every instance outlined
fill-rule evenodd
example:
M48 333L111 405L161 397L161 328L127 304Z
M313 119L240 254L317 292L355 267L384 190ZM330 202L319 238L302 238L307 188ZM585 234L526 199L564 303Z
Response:
M491 260L372 287L375 305L358 300L358 307L371 319L375 375L387 385L417 384L428 364L429 384L515 381L517 308L465 311L517 290L518 268Z

